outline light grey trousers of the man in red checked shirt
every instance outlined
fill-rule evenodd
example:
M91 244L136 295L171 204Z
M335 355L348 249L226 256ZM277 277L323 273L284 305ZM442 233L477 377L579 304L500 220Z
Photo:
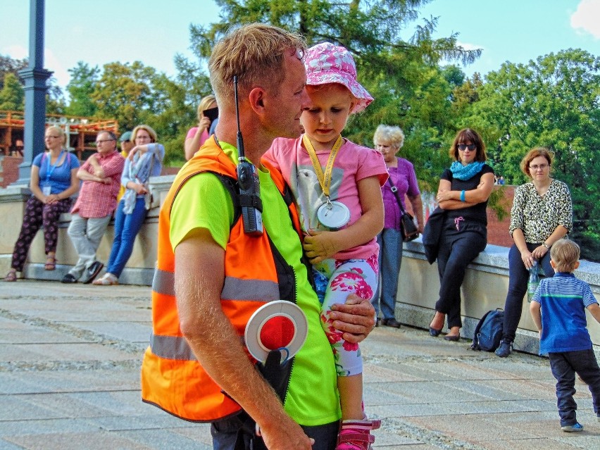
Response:
M111 221L111 216L112 214L99 218L83 218L77 213L71 216L67 233L79 259L69 273L75 277L75 280L78 280L83 271L96 261L96 250L106 232L108 222Z

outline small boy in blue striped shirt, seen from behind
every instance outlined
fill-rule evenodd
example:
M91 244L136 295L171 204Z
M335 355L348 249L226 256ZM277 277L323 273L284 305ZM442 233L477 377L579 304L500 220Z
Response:
M554 277L544 278L533 296L530 312L539 332L539 354L548 354L556 378L561 430L577 432L575 373L592 392L594 412L600 421L600 368L586 328L585 308L600 323L600 306L589 285L577 280L580 249L575 242L560 239L550 250Z

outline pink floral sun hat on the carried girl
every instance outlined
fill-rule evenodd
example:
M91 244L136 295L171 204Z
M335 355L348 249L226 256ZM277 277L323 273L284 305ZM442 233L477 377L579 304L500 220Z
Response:
M356 97L356 105L350 111L358 113L373 101L373 97L356 81L356 65L350 52L342 46L323 42L311 46L304 58L306 67L306 85L327 85L339 83L349 89Z

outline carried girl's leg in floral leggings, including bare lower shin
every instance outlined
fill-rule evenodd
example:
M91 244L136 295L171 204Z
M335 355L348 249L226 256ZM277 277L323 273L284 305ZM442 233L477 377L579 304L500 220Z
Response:
M372 299L377 286L377 261L326 260L313 267L317 292L323 298L321 325L331 343L338 375L338 389L342 419L363 418L363 361L358 344L350 344L331 326L332 304L343 304L350 294ZM327 285L325 287L325 280Z

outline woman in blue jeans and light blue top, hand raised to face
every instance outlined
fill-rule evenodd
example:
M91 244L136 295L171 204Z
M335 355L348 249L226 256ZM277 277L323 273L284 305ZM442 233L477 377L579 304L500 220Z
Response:
M129 260L135 237L146 218L148 180L161 175L165 147L156 143L156 132L148 125L137 125L132 131L135 147L125 160L121 185L125 186L123 199L115 213L115 240L108 258L106 274L94 285L118 285L119 277Z

